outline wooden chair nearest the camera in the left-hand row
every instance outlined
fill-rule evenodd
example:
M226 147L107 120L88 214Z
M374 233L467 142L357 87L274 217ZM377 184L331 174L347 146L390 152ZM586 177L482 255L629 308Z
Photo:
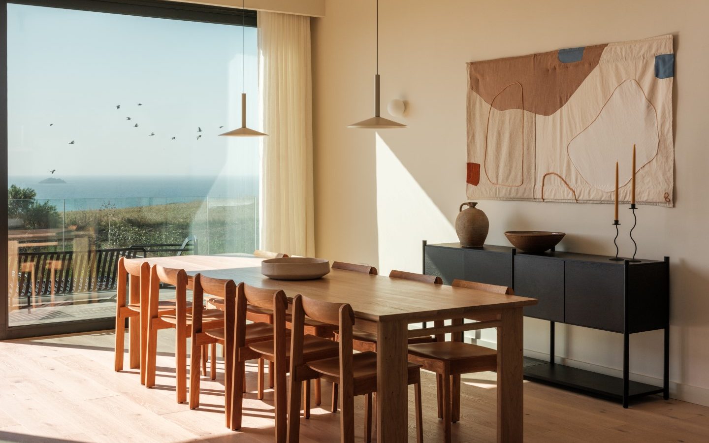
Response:
M306 316L322 323L337 325L340 330L339 356L305 361ZM296 443L300 433L300 403L303 381L323 378L340 386L342 412L340 414L340 442L354 442L354 396L364 395L364 439L372 439L372 393L376 392L376 353L352 349L354 312L345 303L332 303L307 298L298 294L293 300L293 332L291 334L291 386L289 392L288 442ZM421 415L420 364L408 363L408 384L414 385L416 408L416 441L423 440Z

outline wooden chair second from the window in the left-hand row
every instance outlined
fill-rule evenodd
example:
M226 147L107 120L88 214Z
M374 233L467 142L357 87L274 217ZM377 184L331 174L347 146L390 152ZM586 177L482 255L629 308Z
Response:
M159 315L160 284L174 286L176 308L174 313ZM187 401L187 338L191 336L193 304L187 301L187 273L184 269L164 268L153 265L150 268L150 295L147 310L147 356L145 387L155 386L155 365L157 360L157 331L175 330L175 391L177 403ZM223 325L224 313L218 309L204 309L194 305L201 314L203 328ZM193 357L195 358L195 357ZM201 357L196 358L199 364Z

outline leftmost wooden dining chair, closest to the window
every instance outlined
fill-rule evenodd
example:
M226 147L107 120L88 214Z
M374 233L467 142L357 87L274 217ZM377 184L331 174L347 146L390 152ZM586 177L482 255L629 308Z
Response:
M147 262L126 262L118 259L118 284L116 288L116 348L114 369L123 371L123 347L125 342L125 319L128 318L128 367L140 368L140 381L145 372L145 347L140 346L145 333L141 333L140 306L145 305L150 286L150 265ZM128 288L126 288L126 284ZM128 289L128 291L126 291Z

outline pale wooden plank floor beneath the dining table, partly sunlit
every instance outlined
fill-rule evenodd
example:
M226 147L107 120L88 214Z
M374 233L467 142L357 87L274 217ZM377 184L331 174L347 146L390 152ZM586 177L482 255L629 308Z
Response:
M199 410L174 396L174 332L160 331L157 386L140 386L135 370L114 372L113 332L0 342L1 442L272 442L272 393L256 399L248 370L242 432L223 426L223 385L203 378ZM126 340L127 342L127 340ZM127 359L126 359L127 361ZM221 363L218 365L221 369ZM442 441L435 377L422 374L425 441ZM495 441L495 374L472 374L462 386L454 441ZM336 442L339 415L323 407L303 420L302 442ZM409 393L413 412L413 390ZM363 400L356 399L362 441ZM413 416L409 435L414 440ZM624 410L616 403L525 383L525 442L709 442L709 408L652 396Z

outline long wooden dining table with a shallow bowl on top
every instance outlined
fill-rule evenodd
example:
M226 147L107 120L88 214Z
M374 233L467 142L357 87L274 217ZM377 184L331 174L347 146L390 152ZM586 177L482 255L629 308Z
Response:
M523 441L523 307L535 298L424 284L332 269L316 280L274 280L261 274L262 257L247 254L132 259L184 269L262 288L282 289L323 301L350 303L355 327L377 335L377 441L408 441L408 337L497 328L497 441ZM412 329L412 323L497 314L498 320Z

